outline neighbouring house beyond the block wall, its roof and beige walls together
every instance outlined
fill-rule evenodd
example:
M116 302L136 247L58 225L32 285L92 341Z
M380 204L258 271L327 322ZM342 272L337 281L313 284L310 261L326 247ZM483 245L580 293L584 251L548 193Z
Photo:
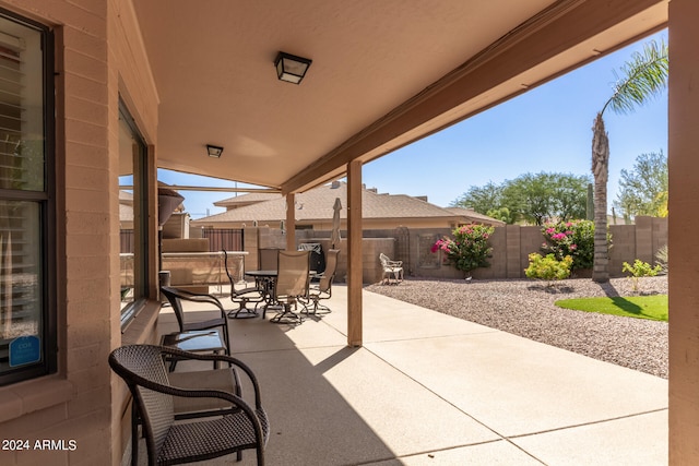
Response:
M341 228L346 228L347 184L335 181L295 196L297 229L332 229L333 205L339 198ZM222 214L192 220L197 227L242 228L244 226L280 227L286 219L286 201L281 194L251 193L214 205L226 207ZM383 194L376 189L365 189L362 195L364 229L384 229L399 226L410 228L453 228L477 223L500 226L503 222L467 208L443 208L427 202L427 198L405 194Z

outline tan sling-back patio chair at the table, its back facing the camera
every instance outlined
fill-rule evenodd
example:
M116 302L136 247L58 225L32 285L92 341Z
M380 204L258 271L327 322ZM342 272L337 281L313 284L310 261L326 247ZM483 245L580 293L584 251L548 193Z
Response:
M308 299L310 251L280 251L276 270L272 301L281 306L282 312L270 319L270 322L301 323L300 315L292 311L292 303Z

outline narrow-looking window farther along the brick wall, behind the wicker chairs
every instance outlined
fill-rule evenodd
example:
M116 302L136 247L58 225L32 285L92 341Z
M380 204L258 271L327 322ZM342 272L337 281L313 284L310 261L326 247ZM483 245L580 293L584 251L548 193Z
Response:
M147 150L133 118L119 107L119 223L121 330L145 304L147 262Z

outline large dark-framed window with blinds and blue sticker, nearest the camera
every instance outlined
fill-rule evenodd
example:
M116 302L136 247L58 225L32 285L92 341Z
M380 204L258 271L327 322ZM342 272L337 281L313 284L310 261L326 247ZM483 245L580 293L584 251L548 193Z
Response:
M52 36L0 10L0 384L56 371Z

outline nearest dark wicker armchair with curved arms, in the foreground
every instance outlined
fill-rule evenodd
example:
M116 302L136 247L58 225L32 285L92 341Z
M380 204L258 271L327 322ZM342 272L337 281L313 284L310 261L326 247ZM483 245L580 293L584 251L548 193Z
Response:
M164 357L197 360L220 360L245 372L254 391L250 406L234 393L217 390L191 390L169 382ZM241 361L226 355L197 355L153 345L128 345L109 355L109 366L129 386L133 396L132 415L143 420L143 434L149 465L192 463L254 449L258 465L264 464L264 446L270 426L260 399L254 373ZM175 422L174 398L217 398L227 402L230 410L224 416L194 418ZM138 444L138 433L132 438ZM132 464L138 447L132 445Z

